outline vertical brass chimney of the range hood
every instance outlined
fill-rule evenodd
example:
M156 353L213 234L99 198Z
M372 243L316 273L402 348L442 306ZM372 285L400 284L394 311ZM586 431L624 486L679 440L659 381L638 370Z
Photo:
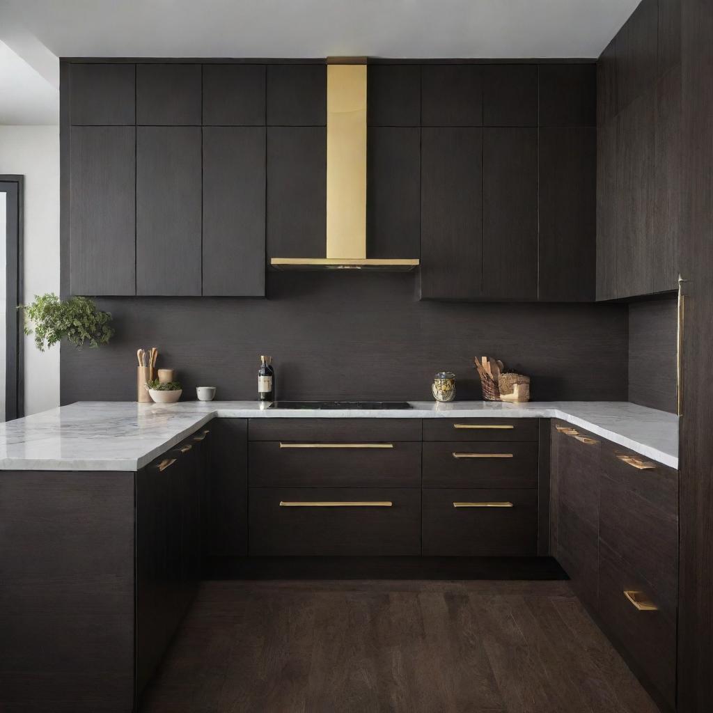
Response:
M366 258L366 64L327 65L327 257Z

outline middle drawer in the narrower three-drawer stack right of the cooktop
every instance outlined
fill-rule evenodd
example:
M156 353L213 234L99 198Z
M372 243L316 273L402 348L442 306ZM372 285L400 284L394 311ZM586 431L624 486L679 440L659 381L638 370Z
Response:
M537 443L424 443L424 488L537 486Z

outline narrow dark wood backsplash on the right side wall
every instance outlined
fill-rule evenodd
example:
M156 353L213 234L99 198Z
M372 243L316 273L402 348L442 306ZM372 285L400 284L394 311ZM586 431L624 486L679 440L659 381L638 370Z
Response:
M629 401L676 411L677 299L629 305Z

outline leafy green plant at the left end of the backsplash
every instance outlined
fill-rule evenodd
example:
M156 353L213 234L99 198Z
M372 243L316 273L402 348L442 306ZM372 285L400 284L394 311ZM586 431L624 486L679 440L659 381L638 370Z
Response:
M18 309L25 315L25 334L32 334L34 327L35 346L40 352L66 339L77 349L87 342L96 349L108 344L114 330L109 326L111 314L97 309L88 297L59 299L48 292L35 297L30 305L21 304Z

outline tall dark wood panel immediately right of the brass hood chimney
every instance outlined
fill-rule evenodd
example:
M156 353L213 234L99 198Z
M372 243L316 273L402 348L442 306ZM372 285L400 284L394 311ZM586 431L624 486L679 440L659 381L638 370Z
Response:
M419 257L421 130L373 126L366 145L366 255Z

